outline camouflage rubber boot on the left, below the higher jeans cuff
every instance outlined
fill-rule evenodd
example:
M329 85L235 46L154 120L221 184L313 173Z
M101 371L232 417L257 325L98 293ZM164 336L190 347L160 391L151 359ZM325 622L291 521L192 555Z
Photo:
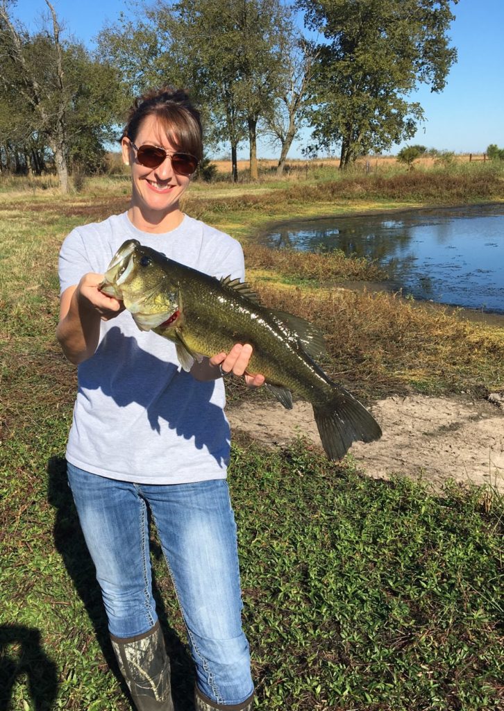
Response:
M112 647L138 711L173 711L170 661L159 621L145 634L122 639Z

